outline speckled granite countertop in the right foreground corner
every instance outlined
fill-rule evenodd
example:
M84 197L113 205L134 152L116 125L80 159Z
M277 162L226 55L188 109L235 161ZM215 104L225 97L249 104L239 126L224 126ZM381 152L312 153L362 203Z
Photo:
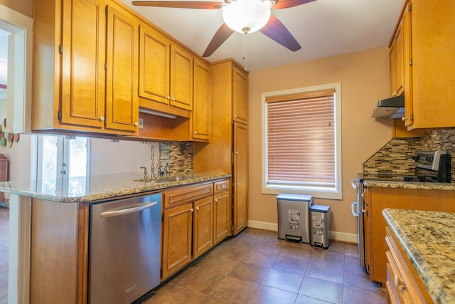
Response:
M455 303L455 213L384 209L434 303Z

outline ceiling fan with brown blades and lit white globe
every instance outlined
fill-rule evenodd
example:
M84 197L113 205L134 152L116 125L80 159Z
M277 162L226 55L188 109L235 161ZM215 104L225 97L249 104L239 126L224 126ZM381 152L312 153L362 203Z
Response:
M209 57L234 31L245 34L260 31L285 48L298 51L301 46L286 26L271 14L270 9L287 9L311 1L315 0L132 1L132 4L178 9L223 9L224 23L203 53L203 57Z

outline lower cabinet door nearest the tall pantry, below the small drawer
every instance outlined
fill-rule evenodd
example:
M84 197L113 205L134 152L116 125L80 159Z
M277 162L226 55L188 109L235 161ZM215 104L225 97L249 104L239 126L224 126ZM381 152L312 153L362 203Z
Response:
M232 207L229 194L229 191L225 191L213 196L213 243L230 236Z

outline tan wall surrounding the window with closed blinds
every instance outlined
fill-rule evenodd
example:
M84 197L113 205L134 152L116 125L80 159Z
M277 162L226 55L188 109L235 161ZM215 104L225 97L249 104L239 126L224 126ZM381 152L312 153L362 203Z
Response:
M370 117L377 100L389 95L388 66L388 49L382 47L250 72L250 221L277 224L276 196L261 193L261 94L341 82L343 199L316 198L314 203L331 206L331 231L357 233L350 211L355 201L350 181L391 137L390 120Z

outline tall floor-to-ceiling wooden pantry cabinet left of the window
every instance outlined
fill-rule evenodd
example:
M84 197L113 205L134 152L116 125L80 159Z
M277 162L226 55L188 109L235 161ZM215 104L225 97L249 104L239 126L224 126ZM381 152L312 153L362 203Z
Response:
M210 67L210 143L194 144L194 172L232 174L232 234L248 223L248 75L232 60Z

